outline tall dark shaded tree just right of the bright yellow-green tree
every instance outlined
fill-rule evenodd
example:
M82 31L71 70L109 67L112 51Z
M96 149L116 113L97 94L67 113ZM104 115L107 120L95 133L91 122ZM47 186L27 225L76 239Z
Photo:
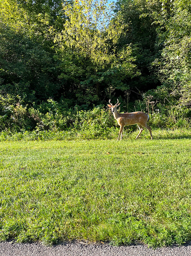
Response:
M160 81L153 71L152 62L160 55L161 46L156 45L157 25L152 16L142 16L144 13L160 11L160 1L152 0L126 0L118 1L117 8L120 10L124 22L128 23L126 33L120 37L119 44L130 44L132 56L135 59L140 73L128 81L130 90L145 92L155 88ZM135 95L137 97L137 94Z

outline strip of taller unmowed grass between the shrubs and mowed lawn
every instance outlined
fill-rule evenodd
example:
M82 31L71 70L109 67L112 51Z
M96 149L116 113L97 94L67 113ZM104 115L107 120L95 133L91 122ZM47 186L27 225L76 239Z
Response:
M125 126L123 132L123 139L135 139L139 130L137 126ZM191 138L191 129L153 129L154 139L181 139ZM107 132L101 134L99 137L91 130L76 130L71 129L67 131L26 131L26 132L0 132L0 141L45 141L45 140L76 140L76 139L117 139L119 134L119 127L110 127ZM150 138L148 130L144 128L140 138Z

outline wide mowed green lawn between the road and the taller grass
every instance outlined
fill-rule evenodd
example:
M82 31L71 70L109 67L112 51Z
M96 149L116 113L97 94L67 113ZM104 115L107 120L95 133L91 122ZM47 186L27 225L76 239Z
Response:
M149 135L1 142L0 239L182 244L191 238L190 146Z

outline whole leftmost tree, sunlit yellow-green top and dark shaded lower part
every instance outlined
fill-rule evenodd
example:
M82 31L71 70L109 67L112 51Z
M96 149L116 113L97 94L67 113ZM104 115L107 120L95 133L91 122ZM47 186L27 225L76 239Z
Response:
M28 103L58 99L62 81L53 40L62 14L60 0L0 2L1 93Z

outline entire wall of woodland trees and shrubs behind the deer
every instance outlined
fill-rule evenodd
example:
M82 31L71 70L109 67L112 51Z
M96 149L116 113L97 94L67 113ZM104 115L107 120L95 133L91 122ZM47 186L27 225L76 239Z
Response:
M110 137L115 121L94 106L112 97L147 111L152 127L190 126L190 1L0 7L1 131Z

